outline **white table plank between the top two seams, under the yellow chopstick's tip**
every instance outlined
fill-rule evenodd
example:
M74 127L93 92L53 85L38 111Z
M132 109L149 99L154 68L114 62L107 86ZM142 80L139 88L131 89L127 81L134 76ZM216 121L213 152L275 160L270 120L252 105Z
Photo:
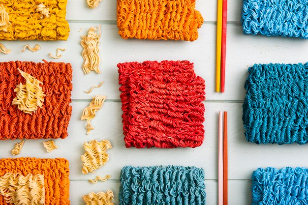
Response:
M244 100L244 84L248 75L247 68L254 63L305 63L308 55L308 41L303 39L265 37L245 35L242 27L228 26L227 66L226 66L226 92L215 92L215 60L216 60L216 26L204 25L200 29L200 37L194 42L183 41L151 41L130 39L124 40L118 35L115 24L101 24L102 37L100 44L100 70L98 75L94 72L84 75L82 71L83 59L80 35L87 33L93 23L71 23L68 41L38 42L41 50L36 53L20 50L26 43L35 45L37 41L4 42L8 48L13 49L10 55L0 54L1 60L32 60L42 59L70 62L73 66L73 99L89 99L84 92L101 81L105 84L93 90L93 94L102 91L108 99L119 100L119 81L117 64L125 61L144 60L190 60L194 62L195 72L206 81L207 100ZM83 28L82 32L78 32ZM61 59L50 59L48 53L55 54L59 47L66 48Z

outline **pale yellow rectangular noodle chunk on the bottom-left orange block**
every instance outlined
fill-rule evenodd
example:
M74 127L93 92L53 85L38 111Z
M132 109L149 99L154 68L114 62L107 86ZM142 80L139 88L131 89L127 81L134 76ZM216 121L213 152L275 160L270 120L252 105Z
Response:
M45 205L43 175L6 173L0 176L0 194L7 204Z

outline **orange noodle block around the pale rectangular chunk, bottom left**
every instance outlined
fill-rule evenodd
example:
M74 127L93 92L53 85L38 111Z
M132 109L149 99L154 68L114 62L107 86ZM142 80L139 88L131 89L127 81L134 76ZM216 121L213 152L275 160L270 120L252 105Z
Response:
M45 200L38 201L39 204L69 205L69 168L68 161L66 159L39 159L29 157L13 159L2 158L0 159L0 177L5 176L5 174L7 173L16 174L19 176L42 176L42 182L45 183L45 186L43 188L43 190L45 191ZM32 187L33 185L35 185L35 183L31 183ZM37 186L35 185L35 187ZM39 189L37 188L32 189L31 195L37 193L38 190ZM22 198L20 199L23 200ZM41 200L41 197L39 195L37 200ZM5 201L5 197L0 195L0 205L12 204L7 203ZM25 205L32 204L30 202Z

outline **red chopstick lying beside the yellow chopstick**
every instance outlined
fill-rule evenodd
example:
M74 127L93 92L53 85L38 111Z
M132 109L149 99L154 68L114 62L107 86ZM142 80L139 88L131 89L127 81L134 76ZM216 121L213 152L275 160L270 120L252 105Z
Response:
M228 0L223 0L222 1L222 29L221 29L220 92L224 92L224 85L225 85L226 43L227 43L227 10L228 10Z

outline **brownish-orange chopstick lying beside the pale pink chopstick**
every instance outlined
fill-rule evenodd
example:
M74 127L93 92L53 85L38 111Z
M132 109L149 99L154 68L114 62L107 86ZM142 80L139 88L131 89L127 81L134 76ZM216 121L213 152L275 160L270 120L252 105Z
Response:
M223 205L228 205L228 114L223 112Z

